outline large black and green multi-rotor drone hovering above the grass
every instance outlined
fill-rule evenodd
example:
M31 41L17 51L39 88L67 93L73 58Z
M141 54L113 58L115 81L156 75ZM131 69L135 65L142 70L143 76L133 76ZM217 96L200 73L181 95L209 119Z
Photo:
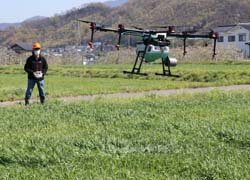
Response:
M213 58L215 58L216 56L216 41L218 38L218 34L212 30L206 34L196 34L195 31L176 32L175 26L155 27L155 28L164 28L164 30L144 30L142 28L137 28L137 27L125 28L125 26L122 24L119 24L117 29L113 29L113 28L107 28L103 25L98 25L96 22L92 21L86 21L81 19L78 19L77 21L90 24L91 39L90 42L88 43L90 48L93 48L94 33L96 31L117 33L118 34L118 43L116 45L117 50L120 49L122 35L139 36L142 38L142 41L137 43L136 59L133 69L131 71L123 71L123 73L147 75L146 73L141 73L141 66L143 61L153 62L155 60L161 59L162 73L156 73L156 75L174 76L172 75L170 68L177 65L177 60L175 58L169 57L170 37L183 39L183 45L184 45L183 56L185 56L187 53L186 51L187 39L193 39L193 38L212 39L214 41Z

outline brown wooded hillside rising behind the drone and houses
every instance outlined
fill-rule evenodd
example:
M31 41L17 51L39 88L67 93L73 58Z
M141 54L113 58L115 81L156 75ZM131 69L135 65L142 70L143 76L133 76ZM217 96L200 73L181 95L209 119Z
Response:
M64 15L22 23L19 28L0 32L0 45L17 41L40 41L45 46L82 44L89 39L88 25L80 24L78 18L102 22L105 25L198 25L209 29L222 24L250 22L250 0L129 0L116 8L104 4L90 4L73 9ZM95 38L99 40L102 34ZM114 36L105 36L113 41Z

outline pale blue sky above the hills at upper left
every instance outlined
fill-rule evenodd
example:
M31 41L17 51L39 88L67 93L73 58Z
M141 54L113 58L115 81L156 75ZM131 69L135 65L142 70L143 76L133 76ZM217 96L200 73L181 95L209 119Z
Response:
M51 17L85 3L107 0L1 0L0 23L22 22L34 16Z

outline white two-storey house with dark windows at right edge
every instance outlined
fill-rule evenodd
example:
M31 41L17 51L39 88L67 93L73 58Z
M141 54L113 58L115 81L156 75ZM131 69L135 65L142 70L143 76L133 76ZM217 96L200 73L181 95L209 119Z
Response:
M250 23L218 26L214 31L219 33L218 45L234 46L243 52L244 57L250 58Z

